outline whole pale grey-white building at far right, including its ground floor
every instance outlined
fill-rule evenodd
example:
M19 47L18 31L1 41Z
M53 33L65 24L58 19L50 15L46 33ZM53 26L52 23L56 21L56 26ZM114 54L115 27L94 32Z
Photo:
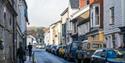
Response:
M125 47L124 6L124 0L104 0L104 32L107 48Z

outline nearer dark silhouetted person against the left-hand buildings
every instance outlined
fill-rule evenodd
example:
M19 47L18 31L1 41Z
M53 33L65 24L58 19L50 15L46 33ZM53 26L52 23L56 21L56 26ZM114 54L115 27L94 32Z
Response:
M25 51L23 47L20 45L20 47L17 49L17 57L19 58L19 63L24 63L25 61Z

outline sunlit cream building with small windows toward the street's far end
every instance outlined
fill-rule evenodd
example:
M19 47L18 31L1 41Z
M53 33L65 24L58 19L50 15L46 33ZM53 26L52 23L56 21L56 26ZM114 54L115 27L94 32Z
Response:
M50 25L49 45L60 45L62 39L62 21Z

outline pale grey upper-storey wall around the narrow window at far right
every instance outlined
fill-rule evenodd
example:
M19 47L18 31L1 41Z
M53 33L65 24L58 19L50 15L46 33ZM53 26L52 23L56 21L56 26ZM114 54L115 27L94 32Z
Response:
M110 8L114 6L115 22L114 25L110 24ZM114 32L119 32L119 28L124 26L122 20L121 12L121 0L104 0L104 32L105 34L110 34Z

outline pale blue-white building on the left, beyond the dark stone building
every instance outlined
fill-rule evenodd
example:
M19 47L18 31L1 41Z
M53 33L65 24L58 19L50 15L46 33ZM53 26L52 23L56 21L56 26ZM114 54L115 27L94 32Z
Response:
M27 38L27 23L28 23L28 14L27 14L27 4L25 0L17 0L17 48L19 44L22 43L26 47L26 38Z

